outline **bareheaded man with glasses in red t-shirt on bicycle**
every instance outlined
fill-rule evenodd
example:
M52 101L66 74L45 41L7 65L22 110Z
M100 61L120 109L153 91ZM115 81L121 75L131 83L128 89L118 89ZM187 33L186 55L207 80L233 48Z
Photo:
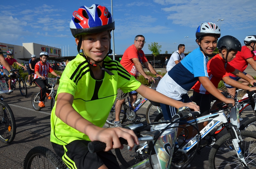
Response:
M143 70L143 67L141 65L141 62L143 62L143 64L145 65L145 67L154 75L156 75L156 77L163 77L162 75L159 75L154 68L152 67L152 65L148 62L142 48L144 47L145 44L145 37L143 35L137 35L134 39L134 44L129 46L124 54L123 57L120 61L120 64L131 74L133 75L135 78L138 77L139 73L141 73L141 75L143 75L146 79L148 79L148 83L150 83L151 81L155 81L154 78L152 76L148 76L146 75L146 73ZM127 96L130 95L131 98L131 104L133 107L133 103L135 103L135 101L137 100L137 92L132 92L132 94L129 93L123 93L122 90L118 89L117 90L117 102L115 104L115 123L114 126L115 127L122 127L121 123L120 123L120 119L119 119L119 115L120 115L120 111L121 111L121 106L123 105L123 103L125 102L125 98ZM133 109L135 109L135 107L133 107ZM145 121L146 119L141 119L140 117L137 117L137 121Z

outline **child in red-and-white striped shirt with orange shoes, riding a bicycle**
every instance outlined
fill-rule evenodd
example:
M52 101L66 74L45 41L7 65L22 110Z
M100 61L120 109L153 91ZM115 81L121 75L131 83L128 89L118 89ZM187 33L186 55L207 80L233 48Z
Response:
M49 96L49 92L47 92L47 88L51 88L52 86L49 85L47 77L48 73L53 74L54 76L60 77L53 71L50 64L47 62L47 59L49 57L49 54L47 52L41 52L40 53L40 61L36 63L35 65L35 75L34 75L34 82L40 87L40 95L39 95L39 107L45 107L44 100L46 97L48 99L51 99L51 96Z

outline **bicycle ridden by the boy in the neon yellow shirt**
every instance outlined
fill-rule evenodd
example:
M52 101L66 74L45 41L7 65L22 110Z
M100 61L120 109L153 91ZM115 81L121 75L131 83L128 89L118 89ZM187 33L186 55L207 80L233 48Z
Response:
M172 122L161 122L158 124L154 124L152 126L148 126L148 124L130 124L125 126L125 128L132 129L135 133L137 133L137 136L139 137L139 141L143 145L145 145L145 143L152 143L152 141L155 141L154 145L149 144L151 145L151 147L146 148L148 150L147 153L145 153L144 151L145 156L147 156L146 160L138 164L136 167L134 167L134 169L135 168L143 168L143 169L151 168L150 163L152 163L151 166L153 165L158 167L162 166L162 168L163 166L168 166L171 164L172 153L174 151L174 145L175 145L174 143L177 135L177 127L179 127L177 124L178 120L181 118L187 118L191 116L191 113L196 113L196 114L200 113L200 112L191 112L191 111L189 112L188 108L185 108L185 107L184 109L180 109L180 110L181 111L177 113L175 117L173 117ZM167 143L163 143L162 138L165 138L165 137L167 138ZM199 139L200 137L197 139L197 141L199 141ZM122 140L121 142L123 143L123 141L126 141L126 140ZM96 143L96 146L94 145L95 143ZM136 147L138 146L140 145L137 145ZM154 152L153 147L157 149L157 153ZM100 150L104 150L105 148L106 148L106 144L100 141L93 141L88 144L88 149L92 153ZM152 153L151 153L151 150L152 150ZM163 156L163 154L165 156ZM195 156L193 156L192 158L194 157ZM160 160L160 164L158 163L159 160ZM53 153L51 150L45 147L34 147L28 152L24 160L24 169L49 168L49 166L51 166L52 168L59 168L59 169L67 168L67 166L65 166L63 162L55 155L55 153Z

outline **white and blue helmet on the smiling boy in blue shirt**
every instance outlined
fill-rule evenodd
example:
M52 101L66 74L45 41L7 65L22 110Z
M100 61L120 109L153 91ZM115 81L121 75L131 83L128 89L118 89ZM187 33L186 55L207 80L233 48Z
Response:
M205 22L197 28L196 38L199 39L204 35L216 35L219 38L220 28L212 22Z

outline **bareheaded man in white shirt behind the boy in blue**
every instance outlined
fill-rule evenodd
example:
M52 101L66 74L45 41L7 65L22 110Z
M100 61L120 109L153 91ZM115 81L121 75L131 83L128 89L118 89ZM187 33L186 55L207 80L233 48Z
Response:
M172 56L169 59L168 64L166 65L166 71L170 71L176 64L178 64L183 58L185 58L184 55L185 51L185 45L179 44L178 50L175 51Z

